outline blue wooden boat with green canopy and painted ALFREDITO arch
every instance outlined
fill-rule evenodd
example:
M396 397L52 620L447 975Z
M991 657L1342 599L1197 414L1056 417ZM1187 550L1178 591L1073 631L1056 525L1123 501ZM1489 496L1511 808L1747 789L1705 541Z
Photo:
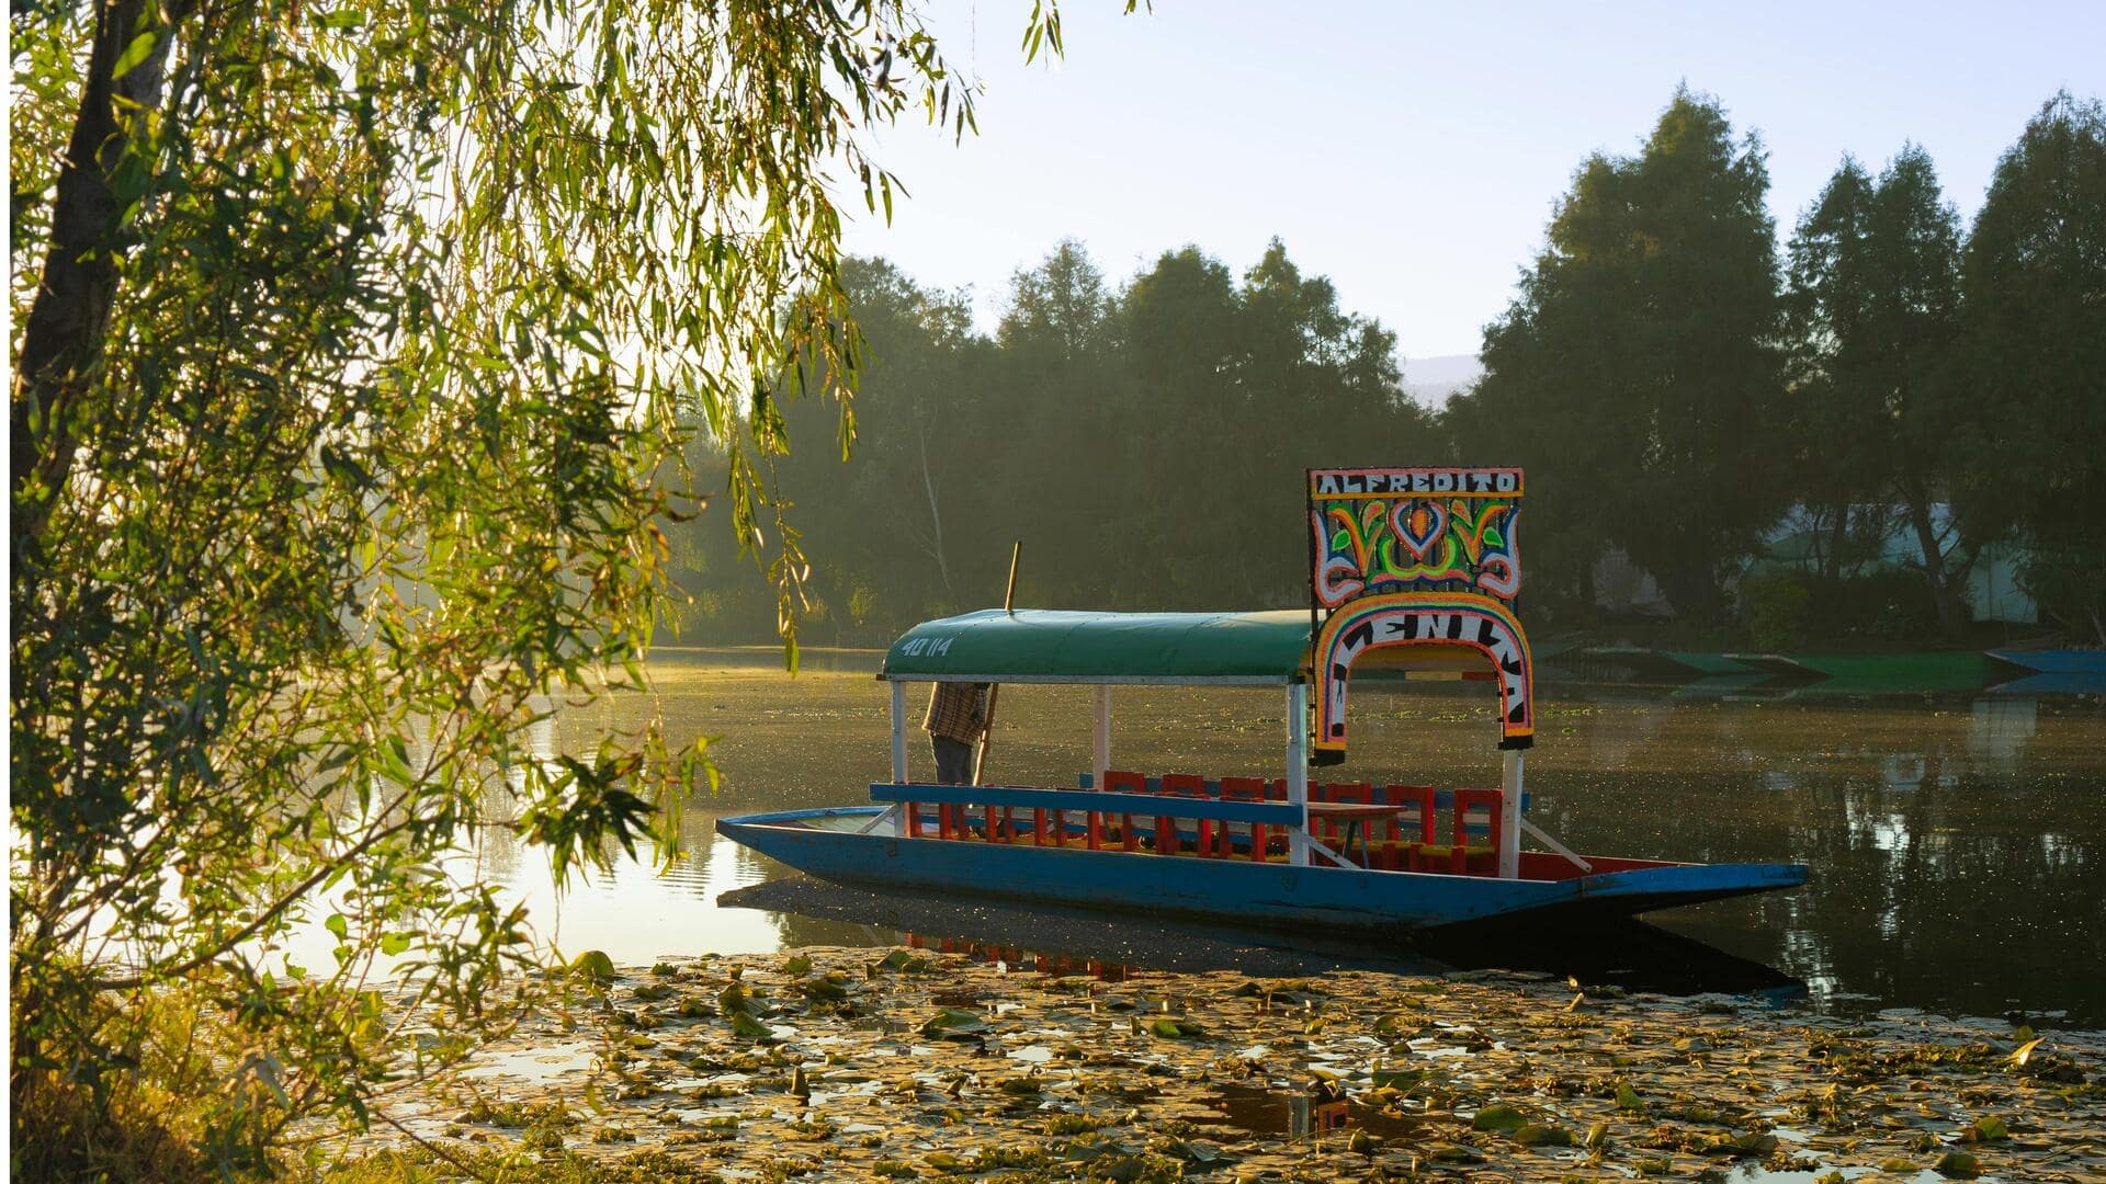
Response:
M1801 864L1577 855L1525 813L1533 670L1521 621L1518 470L1312 470L1308 611L988 609L891 645L891 782L872 805L727 817L718 830L821 879L1238 925L1407 931L1622 916L1805 883ZM1497 788L1312 780L1346 761L1354 670L1489 680ZM908 685L1095 687L1078 788L941 786L908 767ZM1278 775L1118 769L1112 689L1278 687ZM1447 826L1443 826L1443 820ZM1523 836L1539 851L1525 851Z

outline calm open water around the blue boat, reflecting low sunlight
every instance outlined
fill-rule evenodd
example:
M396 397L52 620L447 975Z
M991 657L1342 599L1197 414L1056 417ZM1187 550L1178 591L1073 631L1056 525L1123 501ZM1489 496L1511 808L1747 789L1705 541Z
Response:
M798 881L716 838L718 815L868 801L866 786L887 777L887 689L870 676L874 659L817 655L790 680L771 651L716 651L655 664L651 702L558 714L550 746L585 746L649 710L663 714L670 739L716 735L724 790L689 807L687 849L663 876L630 864L573 881L558 897L537 855L493 845L480 853L484 868L535 902L541 929L564 950L602 948L617 963L895 944L901 929L988 938L990 925L1030 948L1040 923L1028 912L903 906L817 883L718 904L735 889ZM1491 708L1474 691L1356 687L1346 773L1497 784ZM1531 817L1569 847L1813 868L1803 889L1657 912L1653 925L1801 980L1817 1007L2022 1011L2106 1026L2100 697L1729 699L1558 683L1539 693ZM1009 687L1000 716L990 780L1068 786L1089 767L1087 689ZM927 737L914 742L916 771L927 773ZM1280 758L1276 691L1114 691L1114 767L1274 775ZM1064 952L1146 959L1150 929L1139 919L1085 921L1064 931ZM1205 940L1175 931L1156 950ZM1333 948L1318 959L1356 954L1405 965L1415 956ZM1455 961L1453 950L1443 956ZM1499 959L1485 950L1478 961Z

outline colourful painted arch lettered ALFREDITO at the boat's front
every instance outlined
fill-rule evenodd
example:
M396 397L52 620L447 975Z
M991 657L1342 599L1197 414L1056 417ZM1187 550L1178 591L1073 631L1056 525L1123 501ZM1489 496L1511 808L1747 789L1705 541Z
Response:
M1521 470L1310 470L1316 763L1346 756L1358 662L1478 676L1499 687L1499 744L1535 735L1521 592Z

